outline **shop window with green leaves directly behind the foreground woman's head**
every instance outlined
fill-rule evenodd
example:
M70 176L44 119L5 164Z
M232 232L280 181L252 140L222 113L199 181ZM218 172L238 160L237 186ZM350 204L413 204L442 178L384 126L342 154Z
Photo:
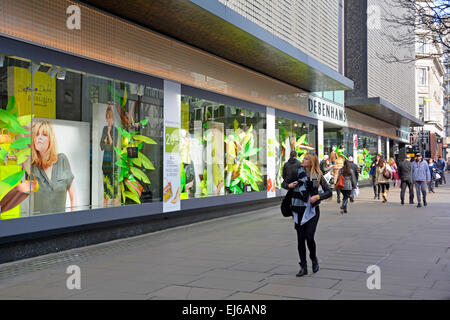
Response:
M316 131L314 125L276 117L275 170L277 188L281 188L283 166L289 160L291 151L297 152L297 159L300 161L309 151L316 151Z

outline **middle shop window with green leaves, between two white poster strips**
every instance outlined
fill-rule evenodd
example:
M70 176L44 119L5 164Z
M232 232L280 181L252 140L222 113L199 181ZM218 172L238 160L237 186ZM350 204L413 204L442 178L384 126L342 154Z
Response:
M181 199L266 188L264 113L182 96Z

